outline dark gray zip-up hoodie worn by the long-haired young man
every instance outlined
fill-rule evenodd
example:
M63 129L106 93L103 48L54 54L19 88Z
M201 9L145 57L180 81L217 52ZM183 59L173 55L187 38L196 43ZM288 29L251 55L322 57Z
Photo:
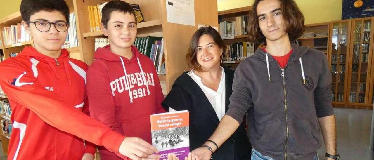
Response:
M262 49L236 68L227 115L248 112L252 147L276 160L312 160L321 147L317 117L334 114L325 55L292 43L284 69Z

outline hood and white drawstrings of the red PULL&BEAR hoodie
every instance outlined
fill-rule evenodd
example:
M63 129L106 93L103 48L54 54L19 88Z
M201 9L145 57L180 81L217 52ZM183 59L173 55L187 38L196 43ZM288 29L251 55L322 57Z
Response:
M131 51L132 51L132 54L134 56L132 56L131 59L127 59L123 56L120 56L120 55L117 55L113 52L110 51L110 44L104 46L104 47L99 47L98 49L96 49L95 51L95 59L96 58L100 58L100 59L104 59L105 61L110 61L110 62L121 62L122 63L122 69L123 69L123 73L124 73L124 76L125 76L125 86L126 88L128 86L130 86L130 80L128 78L128 74L127 74L127 71L126 71L126 65L131 65L131 63L137 63L139 68L140 68L140 71L142 73L142 75L144 75L144 71L143 71L143 68L141 66L141 63L140 63L140 55L142 55L138 49L135 47L135 46L131 46ZM147 87L147 93L148 95L150 95L150 91L149 91L149 87L148 87L148 83L145 83L146 87ZM130 87L128 87L130 88ZM130 103L133 102L133 97L131 96L131 89L128 90L129 92L129 98L130 98Z

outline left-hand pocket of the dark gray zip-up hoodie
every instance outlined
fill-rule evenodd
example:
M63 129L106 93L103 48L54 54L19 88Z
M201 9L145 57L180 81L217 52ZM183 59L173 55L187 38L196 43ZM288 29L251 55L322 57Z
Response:
M285 141L285 125L282 120L269 121L265 125L261 138L255 141L254 146L270 152L282 152Z

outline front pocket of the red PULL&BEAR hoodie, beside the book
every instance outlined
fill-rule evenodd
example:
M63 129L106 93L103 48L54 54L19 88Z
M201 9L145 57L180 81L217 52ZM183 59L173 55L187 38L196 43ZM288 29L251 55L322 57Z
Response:
M141 116L132 120L122 122L123 133L129 137L139 137L151 143L150 116Z

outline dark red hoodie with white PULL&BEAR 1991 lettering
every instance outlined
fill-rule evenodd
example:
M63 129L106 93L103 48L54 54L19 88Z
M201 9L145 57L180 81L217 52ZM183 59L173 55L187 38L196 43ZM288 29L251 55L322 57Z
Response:
M151 59L134 46L131 50L131 59L112 53L110 45L96 50L87 71L89 110L112 130L152 144L150 115L165 112L164 97ZM105 148L99 152L103 160L116 159Z

